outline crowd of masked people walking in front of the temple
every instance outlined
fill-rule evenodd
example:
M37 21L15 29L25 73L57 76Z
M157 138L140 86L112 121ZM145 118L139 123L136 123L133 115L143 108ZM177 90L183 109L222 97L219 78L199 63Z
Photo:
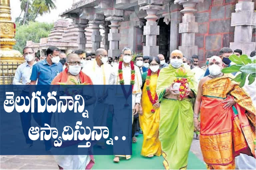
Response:
M69 81L72 77L77 82L93 85L130 85L126 91L132 94L131 138L137 142L138 133L143 134L142 156L162 155L165 169L186 169L194 132L200 131L196 137L200 139L207 169L235 169L235 157L239 155L236 161L247 166L243 169L255 168L256 94L251 89L256 85L246 82L240 88L233 81L237 73L221 72L234 64L229 59L232 54L240 56L242 51L223 47L219 56L207 56L205 66L199 67L197 55L185 57L180 50L172 51L166 58L162 54L133 55L131 48L125 47L120 56L112 58L104 48L94 53L75 50L66 56L57 47L49 47L46 58L35 61L33 49L25 47L26 62L17 68L13 84L72 84ZM250 57L255 59L255 51ZM178 69L191 82L186 87L180 86L177 92L174 81ZM103 95L97 96L101 102L94 111L95 119L105 120L103 110L108 110L109 105L104 100L108 91L99 94ZM22 124L31 147L33 142L25 134L29 127L30 121ZM103 147L104 141L98 144ZM113 161L119 162L120 157L130 159L131 155L114 155ZM60 169L90 169L94 164L92 155L56 155L55 158Z

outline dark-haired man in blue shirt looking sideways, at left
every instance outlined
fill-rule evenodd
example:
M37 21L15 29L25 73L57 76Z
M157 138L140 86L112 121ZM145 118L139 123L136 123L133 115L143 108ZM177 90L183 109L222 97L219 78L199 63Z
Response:
M62 69L62 64L60 61L60 50L57 47L50 46L46 50L46 59L36 63L33 66L30 84L36 84L38 80L38 85L50 85L53 78L59 74Z

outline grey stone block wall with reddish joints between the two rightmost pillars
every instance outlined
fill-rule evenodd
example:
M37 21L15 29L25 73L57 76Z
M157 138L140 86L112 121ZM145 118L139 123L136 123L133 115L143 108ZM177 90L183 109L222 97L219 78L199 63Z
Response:
M235 12L237 0L204 0L197 4L195 14L198 33L195 45L198 46L200 61L208 55L218 55L222 47L234 42L234 27L231 27L231 13Z

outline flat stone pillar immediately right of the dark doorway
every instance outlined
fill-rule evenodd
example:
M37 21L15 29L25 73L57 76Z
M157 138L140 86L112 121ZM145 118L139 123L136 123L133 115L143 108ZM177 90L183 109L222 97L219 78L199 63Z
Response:
M179 24L182 21L182 13L180 12L181 6L179 4L171 5L170 9L169 5L165 6L168 11L164 16L164 22L168 25L170 23L170 53L178 49L179 47L179 40L180 40L180 34L179 34ZM169 15L170 11L170 15Z

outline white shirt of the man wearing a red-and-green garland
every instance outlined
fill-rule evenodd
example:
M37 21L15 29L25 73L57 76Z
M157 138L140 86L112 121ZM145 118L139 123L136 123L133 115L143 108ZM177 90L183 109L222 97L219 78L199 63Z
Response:
M141 79L141 73L138 66L134 65L135 70L135 84L133 86L133 92L132 92L132 109L134 109L135 103L140 103L141 99L141 86L142 86L142 79ZM123 79L125 85L130 85L131 81L131 66L122 66L123 71ZM114 66L113 71L110 74L109 77L109 84L113 85L120 85L119 83L120 79L118 76L118 65ZM129 89L126 89L128 91Z

